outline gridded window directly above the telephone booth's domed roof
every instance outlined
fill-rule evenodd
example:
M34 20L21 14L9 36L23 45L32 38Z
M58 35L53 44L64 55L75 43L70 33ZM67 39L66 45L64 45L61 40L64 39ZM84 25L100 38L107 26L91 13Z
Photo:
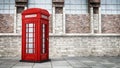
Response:
M50 13L52 12L52 0L29 0L29 8L44 8L47 9Z

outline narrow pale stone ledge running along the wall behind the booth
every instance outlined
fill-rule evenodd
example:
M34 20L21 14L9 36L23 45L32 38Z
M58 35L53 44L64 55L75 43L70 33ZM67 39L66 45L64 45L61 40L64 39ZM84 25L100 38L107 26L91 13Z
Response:
M82 37L82 36L120 36L120 34L91 34L91 33L88 33L88 34L53 34L53 33L50 33L49 34L50 37ZM21 34L18 34L18 33L0 33L0 36L21 36Z

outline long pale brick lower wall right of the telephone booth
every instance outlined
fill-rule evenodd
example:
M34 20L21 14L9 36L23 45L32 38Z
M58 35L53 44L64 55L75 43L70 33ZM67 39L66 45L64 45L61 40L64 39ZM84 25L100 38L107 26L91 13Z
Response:
M117 36L50 37L50 56L119 56L119 41Z

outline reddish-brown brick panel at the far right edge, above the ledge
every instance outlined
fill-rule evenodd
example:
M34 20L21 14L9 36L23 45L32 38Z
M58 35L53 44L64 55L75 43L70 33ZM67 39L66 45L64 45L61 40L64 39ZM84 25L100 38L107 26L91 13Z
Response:
M102 33L120 33L120 15L102 15Z

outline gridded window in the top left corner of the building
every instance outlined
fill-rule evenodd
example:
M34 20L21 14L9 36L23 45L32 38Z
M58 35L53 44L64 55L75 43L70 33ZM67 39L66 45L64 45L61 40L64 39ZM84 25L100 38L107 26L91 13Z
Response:
M14 14L15 0L0 0L0 14Z

